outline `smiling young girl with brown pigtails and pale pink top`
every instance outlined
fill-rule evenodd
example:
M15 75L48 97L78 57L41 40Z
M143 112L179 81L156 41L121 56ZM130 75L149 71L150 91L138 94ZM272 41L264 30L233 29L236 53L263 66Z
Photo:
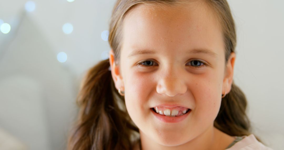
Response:
M91 68L68 149L270 149L233 82L226 0L118 0L108 60Z

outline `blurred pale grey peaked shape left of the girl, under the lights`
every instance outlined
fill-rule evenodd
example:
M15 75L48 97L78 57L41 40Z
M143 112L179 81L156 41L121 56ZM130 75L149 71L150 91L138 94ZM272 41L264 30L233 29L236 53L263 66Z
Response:
M0 127L28 149L65 149L78 82L30 17L18 20L1 48Z

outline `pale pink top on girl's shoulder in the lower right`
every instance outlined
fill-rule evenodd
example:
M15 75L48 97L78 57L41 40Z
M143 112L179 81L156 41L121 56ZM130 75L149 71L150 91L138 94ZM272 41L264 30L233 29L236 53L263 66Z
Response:
M250 134L249 136L243 136L243 139L241 141L238 141L232 147L226 150L254 150L254 149L273 150L260 143L253 134Z

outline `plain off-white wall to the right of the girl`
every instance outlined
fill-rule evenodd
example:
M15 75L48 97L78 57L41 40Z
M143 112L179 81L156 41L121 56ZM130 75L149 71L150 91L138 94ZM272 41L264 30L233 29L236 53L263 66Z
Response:
M237 26L235 82L247 96L256 135L284 149L284 1L228 2Z

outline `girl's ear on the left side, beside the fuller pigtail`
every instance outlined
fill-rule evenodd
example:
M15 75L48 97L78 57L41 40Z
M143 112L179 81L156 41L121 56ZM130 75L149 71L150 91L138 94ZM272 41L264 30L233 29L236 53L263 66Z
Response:
M109 52L109 63L110 63L110 69L111 69L111 76L114 81L116 89L121 89L124 91L124 82L122 80L122 75L120 74L120 68L119 65L115 63L114 60L114 52L111 49Z

